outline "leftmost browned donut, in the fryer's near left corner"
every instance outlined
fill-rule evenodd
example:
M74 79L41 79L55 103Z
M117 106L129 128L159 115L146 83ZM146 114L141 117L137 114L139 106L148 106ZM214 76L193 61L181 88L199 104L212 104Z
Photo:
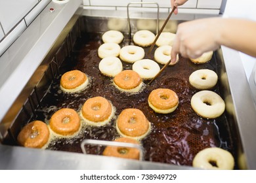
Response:
M18 144L27 148L45 148L50 139L50 131L44 122L33 121L25 125L18 134Z

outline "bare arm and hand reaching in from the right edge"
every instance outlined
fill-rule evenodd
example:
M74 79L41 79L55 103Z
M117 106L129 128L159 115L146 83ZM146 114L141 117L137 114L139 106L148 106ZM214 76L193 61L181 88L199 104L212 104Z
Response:
M171 51L172 63L177 54L198 58L204 52L224 45L256 57L256 22L231 18L205 18L178 26Z

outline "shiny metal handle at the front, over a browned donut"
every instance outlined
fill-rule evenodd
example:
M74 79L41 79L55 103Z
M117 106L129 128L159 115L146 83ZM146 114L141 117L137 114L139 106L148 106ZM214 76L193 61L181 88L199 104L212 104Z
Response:
M85 150L85 144L94 144L94 145L102 145L102 146L117 146L124 148L137 148L140 152L139 160L143 160L143 148L139 144L126 143L126 142L114 142L114 141L101 141L101 140L93 140L93 139L85 139L81 142L81 149L83 154L87 154Z

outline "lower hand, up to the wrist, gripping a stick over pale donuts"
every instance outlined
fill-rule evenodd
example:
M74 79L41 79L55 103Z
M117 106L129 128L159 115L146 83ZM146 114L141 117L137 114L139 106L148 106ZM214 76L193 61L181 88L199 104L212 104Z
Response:
M179 24L171 50L171 63L175 63L179 53L184 58L198 58L204 52L219 48L220 24L221 18L205 18Z

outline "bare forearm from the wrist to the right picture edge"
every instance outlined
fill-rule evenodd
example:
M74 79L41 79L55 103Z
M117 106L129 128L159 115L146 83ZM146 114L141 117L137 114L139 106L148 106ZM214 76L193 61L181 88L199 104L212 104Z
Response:
M219 29L218 44L256 57L256 22L223 18Z

